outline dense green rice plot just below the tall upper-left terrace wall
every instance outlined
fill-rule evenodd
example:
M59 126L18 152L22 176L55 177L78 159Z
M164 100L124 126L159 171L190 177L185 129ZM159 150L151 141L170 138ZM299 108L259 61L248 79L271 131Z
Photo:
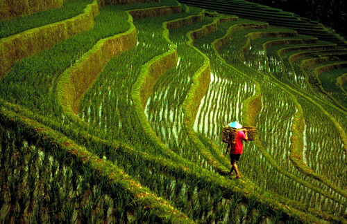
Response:
M59 109L60 107L56 106L56 102L51 102L50 98L46 97L51 93L49 91L51 84L56 84L58 74L62 73L71 64L74 64L83 52L94 46L97 40L114 35L115 32L124 32L128 28L125 13L117 10L112 6L103 8L100 15L96 17L96 24L92 30L83 32L81 35L72 37L67 41L62 41L49 50L44 50L42 53L17 62L10 73L1 80L1 93L4 93L1 97L5 97L8 100L15 100L17 98L18 103L22 102L22 104L31 109L33 109L35 104L33 102L36 99L38 100L37 103L40 102L36 108L41 113L49 114L53 109ZM119 12L115 14L117 16L110 16L115 12ZM124 22L116 23L115 21ZM111 29L111 26L114 28ZM15 75L17 82L6 84L10 82L13 77L12 75ZM33 88L35 88L35 91L33 91ZM28 94L20 94L19 89L26 89L24 92ZM17 95L17 97L12 95L12 93ZM56 112L56 115L60 117L61 114L59 115L59 113L61 111Z

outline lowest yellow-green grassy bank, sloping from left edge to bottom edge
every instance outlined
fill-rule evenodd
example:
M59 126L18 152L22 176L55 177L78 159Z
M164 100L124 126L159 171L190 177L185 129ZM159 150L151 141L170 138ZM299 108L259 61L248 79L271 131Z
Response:
M97 174L107 177L109 183L121 185L124 187L124 190L134 196L137 202L156 211L156 214L165 223L193 223L185 214L172 207L167 200L155 196L149 189L139 185L139 183L125 174L123 170L113 165L112 162L95 156L62 133L8 109L1 108L0 118L1 122L5 123L7 127L10 125L23 127L28 133L28 138L49 142L53 149L66 151L73 160L81 162L83 165L94 169Z

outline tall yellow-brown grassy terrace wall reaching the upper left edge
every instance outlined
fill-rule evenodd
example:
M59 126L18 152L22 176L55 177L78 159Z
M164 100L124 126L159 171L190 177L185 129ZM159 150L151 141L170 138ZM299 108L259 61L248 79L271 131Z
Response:
M8 73L18 59L34 55L89 30L94 26L94 17L98 14L99 5L94 0L81 15L0 39L0 78Z

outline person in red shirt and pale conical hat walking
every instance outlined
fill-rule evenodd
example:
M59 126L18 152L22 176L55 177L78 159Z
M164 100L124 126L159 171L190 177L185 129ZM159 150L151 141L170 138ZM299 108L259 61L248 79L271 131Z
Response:
M241 156L242 150L244 149L243 141L246 141L246 142L248 141L247 129L241 129L242 125L236 121L232 122L229 125L230 127L240 129L239 131L237 131L235 144L228 143L228 146L226 147L226 153L230 153L230 162L232 165L229 175L232 176L232 171L235 170L236 178L241 178L241 176L239 176L239 171L237 169L237 161L239 161L239 156ZM230 151L228 151L229 147L230 147Z

